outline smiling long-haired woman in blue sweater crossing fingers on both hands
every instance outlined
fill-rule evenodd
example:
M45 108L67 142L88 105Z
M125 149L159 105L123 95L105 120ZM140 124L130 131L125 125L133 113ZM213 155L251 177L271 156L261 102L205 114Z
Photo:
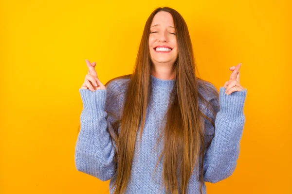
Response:
M229 177L239 155L247 90L241 64L220 87L195 75L183 17L157 8L146 21L132 74L103 85L92 64L79 92L78 171L110 194L198 194Z

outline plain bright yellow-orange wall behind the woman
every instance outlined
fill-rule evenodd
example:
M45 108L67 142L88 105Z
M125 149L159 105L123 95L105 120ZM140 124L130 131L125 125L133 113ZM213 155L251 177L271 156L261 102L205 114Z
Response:
M219 88L242 63L248 94L237 168L207 183L208 194L292 193L289 0L1 0L1 194L106 192L109 181L74 165L84 60L97 62L104 84L131 73L158 6L186 20L201 78Z

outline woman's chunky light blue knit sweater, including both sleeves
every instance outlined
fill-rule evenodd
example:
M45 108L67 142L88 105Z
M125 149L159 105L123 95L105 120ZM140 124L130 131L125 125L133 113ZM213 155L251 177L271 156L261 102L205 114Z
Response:
M110 179L110 187L115 180L114 175L114 144L110 141L107 130L112 117L106 117L106 111L121 116L126 80L111 81L107 89L96 90L79 89L83 110L80 116L81 129L75 145L76 169L100 180ZM164 194L165 188L162 179L163 162L159 163L156 173L154 168L163 149L163 141L159 141L158 149L154 149L160 133L159 127L164 124L163 116L166 113L171 89L175 80L161 80L151 76L152 98L151 109L147 108L146 123L140 145L140 129L137 133L135 153L132 162L131 177L128 181L126 194ZM217 91L215 86L204 81L209 87ZM127 85L127 84L126 84ZM239 142L241 139L245 116L243 106L247 90L225 94L225 88L220 87L219 98L209 95L200 89L199 92L210 101L216 110L216 115L204 109L199 101L199 107L204 114L215 123L215 129L210 122L205 122L206 139L214 137L206 150L203 164L204 182L216 183L231 176L237 165ZM208 91L208 90L207 90ZM118 94L118 95L117 95ZM163 138L162 138L163 139ZM196 177L198 171L193 171L189 179L188 194L200 194L200 182ZM110 194L113 189L110 190ZM205 183L203 193L206 193Z

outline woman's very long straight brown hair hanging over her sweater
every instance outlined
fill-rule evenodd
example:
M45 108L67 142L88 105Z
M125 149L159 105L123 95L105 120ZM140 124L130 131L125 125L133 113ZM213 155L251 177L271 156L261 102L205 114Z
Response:
M201 112L199 101L201 100L208 109L211 108L211 112L215 112L211 104L199 92L201 86L206 90L203 83L207 81L196 77L192 43L183 17L172 8L160 7L155 9L146 21L133 73L110 80L129 79L124 94L123 113L112 125L114 134L110 134L111 140L117 146L115 149L116 178L110 188L111 190L115 186L114 194L123 194L127 189L136 135L140 126L139 141L142 138L146 109L152 92L150 75L153 64L150 59L148 38L153 17L161 11L172 15L178 45L178 58L173 66L176 79L165 115L167 119L164 128L164 148L159 157L160 161L164 156L163 182L166 194L168 192L186 194L194 167L197 169L201 166L198 180L201 182L202 193L204 153L212 140L206 141L205 119L213 125L214 129L215 124ZM210 88L208 91L211 91ZM211 92L218 96L217 90ZM108 114L113 113L108 112ZM118 132L119 127L120 132Z

